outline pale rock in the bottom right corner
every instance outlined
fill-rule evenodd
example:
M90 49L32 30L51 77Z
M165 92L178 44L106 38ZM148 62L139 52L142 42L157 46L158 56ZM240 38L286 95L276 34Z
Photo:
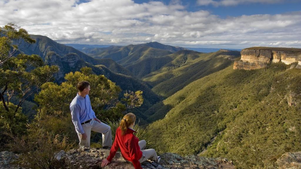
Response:
M278 169L301 169L301 152L287 152L277 159Z

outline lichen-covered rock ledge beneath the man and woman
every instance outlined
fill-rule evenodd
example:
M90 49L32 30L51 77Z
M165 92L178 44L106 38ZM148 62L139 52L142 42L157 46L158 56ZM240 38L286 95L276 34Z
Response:
M101 162L109 155L109 150L95 149L95 148L82 148L72 149L68 152L58 152L54 155L57 162L60 163L62 168L69 169L100 169ZM1 152L2 153L2 152ZM12 152L5 152L7 156L0 156L0 162L5 161L5 165L0 163L1 169L15 169L10 165L10 160L17 159L17 156ZM8 160L4 160L7 159ZM144 161L141 164L144 169L234 169L232 161L225 158L206 158L196 155L189 155L182 157L174 153L161 154L160 164L155 161ZM116 152L112 162L104 167L105 169L134 169L133 165L126 162L121 156L120 152Z

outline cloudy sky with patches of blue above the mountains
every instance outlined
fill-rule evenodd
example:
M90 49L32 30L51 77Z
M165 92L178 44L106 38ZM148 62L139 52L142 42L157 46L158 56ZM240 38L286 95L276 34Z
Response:
M301 0L0 0L7 23L64 44L301 48Z

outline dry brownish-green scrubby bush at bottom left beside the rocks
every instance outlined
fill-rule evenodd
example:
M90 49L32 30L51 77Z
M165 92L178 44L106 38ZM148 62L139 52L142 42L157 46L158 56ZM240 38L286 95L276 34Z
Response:
M10 136L13 140L8 144L10 151L21 153L17 163L20 167L31 169L61 168L63 161L57 161L54 154L67 151L74 146L74 142L67 141L67 137L51 135L41 129L32 130L23 137ZM61 139L62 138L62 139Z

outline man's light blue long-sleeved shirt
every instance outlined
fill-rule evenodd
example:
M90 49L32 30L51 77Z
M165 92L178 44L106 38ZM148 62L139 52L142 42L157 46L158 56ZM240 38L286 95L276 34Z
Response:
M76 97L70 103L70 110L75 130L80 134L84 134L85 131L81 123L96 118L95 112L91 107L90 97L88 95L81 97L77 93Z

